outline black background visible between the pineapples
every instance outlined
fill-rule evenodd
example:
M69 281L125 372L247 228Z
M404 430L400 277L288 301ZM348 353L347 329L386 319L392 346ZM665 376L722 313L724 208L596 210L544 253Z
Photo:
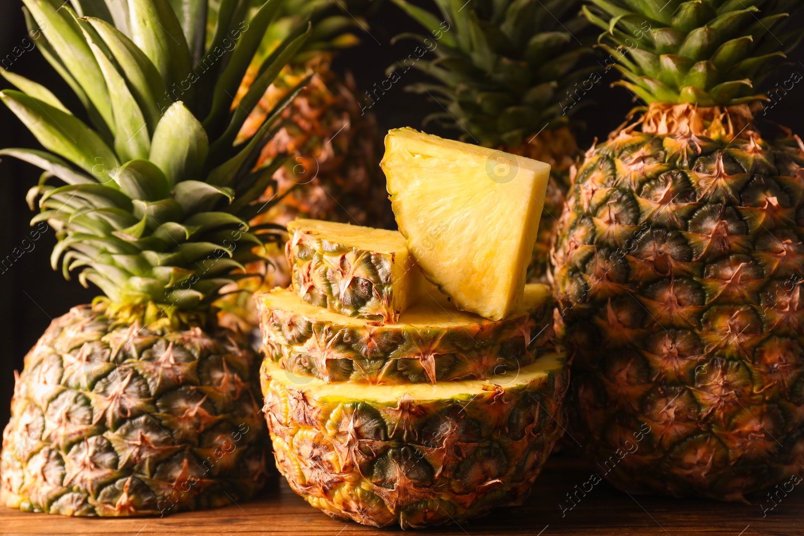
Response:
M429 0L428 0L429 1ZM425 6L426 2L415 2ZM0 0L0 58L5 58L14 47L22 48L27 39L25 23L18 0ZM790 27L802 27L804 17L791 21ZM335 69L349 71L355 76L357 86L371 90L374 84L386 79L385 69L397 59L412 53L416 43L403 40L391 45L393 35L402 31L420 31L416 23L390 2L384 2L371 17L369 35L363 35L359 47L341 52L335 61ZM30 48L30 45L27 46ZM765 89L772 88L790 79L794 72L804 75L804 50L790 55L790 65L781 66L773 73ZM47 64L38 51L26 51L9 66L10 71L36 80L51 88L64 104L71 109L80 109L72 92ZM796 77L802 80L802 76ZM595 137L603 138L623 121L623 117L634 106L630 95L622 88L609 88L616 76L605 75L603 82L597 84L588 98L595 104L582 110L576 119L582 117L585 125L579 125L577 136L583 148L592 145ZM420 127L422 119L429 113L440 111L438 104L429 102L426 96L404 91L404 86L422 80L413 69L385 92L371 108L379 123L380 132L388 129L412 126ZM9 84L0 79L0 88ZM789 86L788 86L789 87ZM72 98L71 98L72 97ZM767 114L766 119L777 121L804 133L804 84L798 83L784 96L777 106ZM760 127L763 125L760 124ZM460 132L444 132L429 127L429 132L457 137ZM0 147L37 147L34 137L28 133L16 117L0 105ZM0 162L0 260L9 255L14 248L22 248L23 239L29 243L31 218L25 202L27 190L35 185L39 169L6 158ZM4 271L0 268L0 427L9 416L9 401L14 388L14 370L22 370L23 357L33 346L50 323L52 318L66 313L73 305L87 303L96 296L94 288L82 288L75 280L67 281L60 272L50 268L50 252L55 244L52 232L33 242L33 250L25 252L14 264ZM31 249L31 245L27 246Z

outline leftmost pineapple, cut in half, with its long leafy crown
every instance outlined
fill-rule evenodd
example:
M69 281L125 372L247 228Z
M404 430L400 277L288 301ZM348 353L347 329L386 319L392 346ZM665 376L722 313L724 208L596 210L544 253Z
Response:
M27 354L3 432L0 502L130 516L247 499L266 474L259 362L211 304L257 258L252 247L277 240L246 223L270 207L259 198L281 162L253 168L277 121L233 145L246 114L229 113L275 2L230 13L206 48L206 2L187 4L201 15L183 23L167 0L115 2L114 15L103 2L24 3L37 47L92 127L6 73L25 92L0 100L47 151L0 154L44 170L27 197L39 198L32 222L56 232L54 268L77 268L104 296L56 318ZM308 35L277 50L244 106Z

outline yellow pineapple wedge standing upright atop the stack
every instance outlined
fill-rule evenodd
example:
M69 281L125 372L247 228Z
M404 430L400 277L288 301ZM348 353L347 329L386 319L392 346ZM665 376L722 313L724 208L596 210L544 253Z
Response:
M396 223L458 309L499 320L522 300L550 166L413 129L381 162Z

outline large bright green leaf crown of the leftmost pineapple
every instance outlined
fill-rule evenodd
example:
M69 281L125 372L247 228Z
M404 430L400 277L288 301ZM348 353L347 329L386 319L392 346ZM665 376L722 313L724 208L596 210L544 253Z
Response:
M58 243L51 264L80 269L113 303L204 309L254 248L279 226L249 227L272 203L284 158L255 163L303 80L248 140L233 145L252 109L310 36L293 32L260 66L240 105L232 97L280 0L222 0L207 39L207 0L23 0L31 36L67 81L93 125L52 92L10 72L21 91L0 92L44 149L2 149L43 169L27 196L32 224L47 221ZM123 6L123 7L121 7ZM174 7L180 8L174 11ZM124 9L125 8L125 9ZM57 178L63 185L51 184Z

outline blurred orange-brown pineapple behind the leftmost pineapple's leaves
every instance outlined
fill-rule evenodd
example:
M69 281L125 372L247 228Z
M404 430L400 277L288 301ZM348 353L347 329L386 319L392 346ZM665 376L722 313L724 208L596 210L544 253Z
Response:
M216 3L216 2L215 2ZM388 198L377 169L379 135L375 118L363 113L356 96L354 80L330 70L334 51L358 43L351 33L366 27L352 14L366 11L367 2L350 0L287 0L278 7L279 14L265 31L255 60L246 75L232 107L240 105L256 76L260 63L283 41L293 39L307 21L313 23L310 39L290 59L273 84L251 109L238 140L252 137L269 117L276 104L306 76L312 78L283 113L284 123L263 147L257 165L289 154L284 165L274 172L276 184L265 189L263 200L277 195L281 202L252 221L253 225L275 223L284 226L296 217L326 219L347 223L388 227L392 224ZM345 11L348 10L348 13ZM217 16L213 10L212 20ZM217 304L220 321L242 331L256 330L257 313L251 295L256 290L286 286L289 267L284 256L268 248L263 260L246 265L252 274L238 282L239 290Z

